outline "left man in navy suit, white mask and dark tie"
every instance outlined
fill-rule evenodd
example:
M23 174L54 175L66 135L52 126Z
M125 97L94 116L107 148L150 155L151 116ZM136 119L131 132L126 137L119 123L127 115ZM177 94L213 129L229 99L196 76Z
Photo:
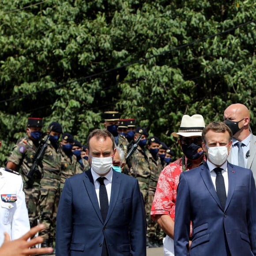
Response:
M113 171L116 149L110 132L94 130L87 146L91 168L68 178L60 198L56 256L146 256L146 218L138 181Z

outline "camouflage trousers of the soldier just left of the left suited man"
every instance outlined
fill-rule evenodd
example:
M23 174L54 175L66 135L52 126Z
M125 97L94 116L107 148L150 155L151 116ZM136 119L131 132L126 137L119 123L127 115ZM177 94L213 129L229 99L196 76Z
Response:
M60 201L60 179L55 174L49 176L44 174L41 179L39 222L45 225L45 229L39 235L46 241L55 241L56 213Z

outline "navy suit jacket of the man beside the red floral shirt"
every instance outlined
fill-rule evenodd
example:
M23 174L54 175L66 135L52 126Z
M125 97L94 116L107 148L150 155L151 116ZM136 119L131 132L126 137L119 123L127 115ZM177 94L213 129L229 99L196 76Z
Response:
M183 172L177 188L175 256L256 255L256 188L250 169L228 163L229 188L222 210L207 163ZM192 245L188 241L192 221Z

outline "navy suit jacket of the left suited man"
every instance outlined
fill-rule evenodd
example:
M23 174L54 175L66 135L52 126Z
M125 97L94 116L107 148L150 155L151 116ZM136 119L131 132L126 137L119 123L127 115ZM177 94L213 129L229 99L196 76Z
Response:
M102 220L91 170L66 180L56 220L56 256L146 256L146 218L138 181L113 171L109 211Z

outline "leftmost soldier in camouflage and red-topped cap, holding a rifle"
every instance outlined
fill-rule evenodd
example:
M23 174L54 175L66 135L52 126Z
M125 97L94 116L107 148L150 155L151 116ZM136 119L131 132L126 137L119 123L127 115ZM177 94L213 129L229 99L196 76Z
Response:
M23 179L23 188L26 195L25 200L30 219L30 227L38 225L40 179L36 179L33 186L31 186L28 184L26 174L33 164L33 156L41 139L42 125L43 122L41 118L28 118L26 136L19 139L17 144L14 146L6 165L8 169L18 171ZM39 169L41 170L40 166Z

